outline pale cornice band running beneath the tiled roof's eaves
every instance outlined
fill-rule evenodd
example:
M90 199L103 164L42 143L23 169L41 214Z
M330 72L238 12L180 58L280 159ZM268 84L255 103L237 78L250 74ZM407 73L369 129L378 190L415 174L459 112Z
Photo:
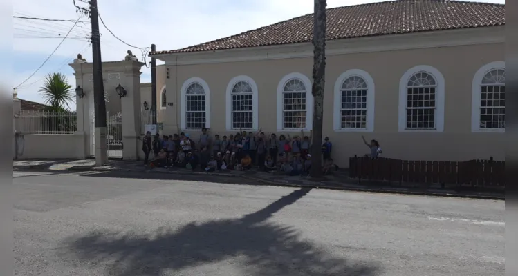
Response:
M326 56L364 52L385 52L450 46L469 46L505 42L505 26L466 28L411 34L392 34L378 37L331 40L326 43ZM154 55L166 65L194 65L269 59L293 59L313 57L311 43L287 44Z

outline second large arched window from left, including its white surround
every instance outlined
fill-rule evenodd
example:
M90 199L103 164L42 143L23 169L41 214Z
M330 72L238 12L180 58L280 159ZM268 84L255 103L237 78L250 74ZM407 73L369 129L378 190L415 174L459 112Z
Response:
M232 79L227 87L227 129L257 129L257 86L247 76Z

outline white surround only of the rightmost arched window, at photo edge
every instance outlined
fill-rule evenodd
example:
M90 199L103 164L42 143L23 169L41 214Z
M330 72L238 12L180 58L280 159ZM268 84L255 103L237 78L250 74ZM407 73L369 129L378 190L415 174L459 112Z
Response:
M494 69L506 70L505 61L494 61L482 66L475 72L471 92L471 131L472 132L506 132L505 129L484 129L480 128L480 108L481 108L481 89L482 79L485 74ZM507 99L506 99L507 100Z

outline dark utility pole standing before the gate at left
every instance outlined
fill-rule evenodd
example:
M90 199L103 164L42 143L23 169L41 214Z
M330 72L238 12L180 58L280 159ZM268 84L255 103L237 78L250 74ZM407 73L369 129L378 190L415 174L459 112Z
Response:
M99 34L99 14L97 0L90 0L92 20L92 57L93 57L93 102L95 106L95 165L108 163L107 114L104 102L104 83L102 83L101 41Z

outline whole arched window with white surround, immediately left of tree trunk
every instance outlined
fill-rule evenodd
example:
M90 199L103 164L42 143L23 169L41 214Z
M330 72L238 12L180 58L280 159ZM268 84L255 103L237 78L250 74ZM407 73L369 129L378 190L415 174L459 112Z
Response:
M311 81L301 73L284 76L277 87L277 130L311 130Z

